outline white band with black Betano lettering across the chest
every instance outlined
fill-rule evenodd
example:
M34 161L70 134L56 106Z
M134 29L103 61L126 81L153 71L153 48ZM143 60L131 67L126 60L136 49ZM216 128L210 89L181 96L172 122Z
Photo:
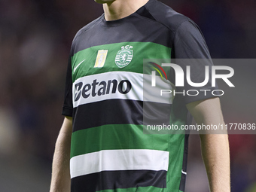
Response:
M105 72L78 78L73 83L73 107L106 99L172 104L172 94L160 96L160 90L173 90L172 84L156 78L156 87L151 87L151 75L136 72Z

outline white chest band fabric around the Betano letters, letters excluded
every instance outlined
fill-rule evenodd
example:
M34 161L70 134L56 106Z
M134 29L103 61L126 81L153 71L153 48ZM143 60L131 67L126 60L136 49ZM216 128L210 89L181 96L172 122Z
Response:
M102 81L105 81L105 83L108 84L108 81L112 81L114 79L117 80L117 89L115 93L111 93L111 90L113 89L111 84L111 89L108 94L105 92L105 94L100 96L99 94L92 96L93 81L96 80L97 85L95 86L95 93L98 93L100 89L102 90L103 85L100 84ZM123 94L118 91L118 84L120 84L120 81L123 80L130 81L132 85L132 89L129 93ZM88 75L83 78L78 78L73 84L73 106L75 108L78 107L78 105L99 102L105 99L133 99L139 101L172 104L172 94L163 94L163 96L160 96L160 90L173 90L172 84L166 79L162 80L159 76L156 76L156 82L157 86L151 87L151 75L143 75L135 72L105 72L102 74ZM79 83L82 83L83 86L78 90L78 87L75 87L75 85L78 85ZM85 88L85 90L87 90L86 94L90 94L90 96L84 98L82 94L80 94L81 96L79 99L75 101L75 96L78 96L78 93L82 92L83 87L86 84L90 85L90 90L87 90L88 87ZM125 89L125 87L126 83L123 83L123 89Z

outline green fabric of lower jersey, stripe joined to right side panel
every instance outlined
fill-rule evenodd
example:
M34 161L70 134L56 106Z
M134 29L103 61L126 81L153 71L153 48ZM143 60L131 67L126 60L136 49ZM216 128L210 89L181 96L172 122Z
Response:
M71 157L101 150L154 149L169 151L167 189L178 190L183 163L184 135L144 134L143 126L131 124L105 125L72 133ZM117 192L164 191L157 187L115 189ZM112 192L112 190L100 190Z

